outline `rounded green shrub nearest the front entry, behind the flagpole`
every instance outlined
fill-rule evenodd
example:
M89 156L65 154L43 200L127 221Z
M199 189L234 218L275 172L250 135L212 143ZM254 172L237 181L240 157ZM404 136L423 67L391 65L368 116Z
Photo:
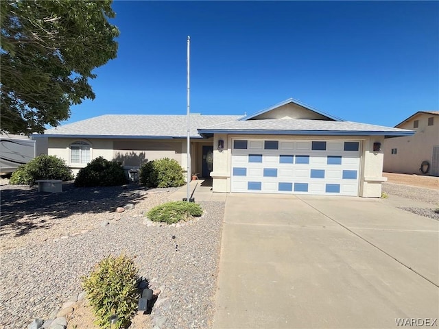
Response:
M169 158L152 160L140 168L139 180L147 187L178 187L185 184L180 164Z

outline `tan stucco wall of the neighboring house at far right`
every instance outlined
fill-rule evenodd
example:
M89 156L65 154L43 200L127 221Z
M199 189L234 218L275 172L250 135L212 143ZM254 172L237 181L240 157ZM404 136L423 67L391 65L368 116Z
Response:
M434 125L427 125L429 117L434 117ZM414 120L419 121L417 128L413 127ZM420 174L421 162L427 160L431 164L433 147L439 146L439 116L420 113L398 127L415 130L416 133L408 137L385 139L384 171ZM392 154L394 148L397 149L396 154Z

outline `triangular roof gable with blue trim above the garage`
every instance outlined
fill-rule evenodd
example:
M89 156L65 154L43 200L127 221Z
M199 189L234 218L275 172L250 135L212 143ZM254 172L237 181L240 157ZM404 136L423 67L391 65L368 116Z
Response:
M263 120L263 119L307 119L307 120L327 120L343 121L340 118L333 117L311 106L301 103L296 99L287 99L270 108L265 108L259 112L250 114L240 120Z

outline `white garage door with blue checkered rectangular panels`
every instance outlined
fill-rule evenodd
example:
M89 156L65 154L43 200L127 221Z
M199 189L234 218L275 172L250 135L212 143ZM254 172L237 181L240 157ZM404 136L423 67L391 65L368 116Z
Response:
M232 192L358 195L359 141L235 139Z

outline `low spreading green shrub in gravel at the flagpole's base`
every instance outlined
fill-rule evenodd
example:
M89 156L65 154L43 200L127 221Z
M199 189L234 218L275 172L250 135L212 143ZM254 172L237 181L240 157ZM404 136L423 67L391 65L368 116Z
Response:
M171 201L161 206L156 206L147 212L147 217L152 221L173 224L187 221L192 216L201 216L203 210L199 204L185 201Z

